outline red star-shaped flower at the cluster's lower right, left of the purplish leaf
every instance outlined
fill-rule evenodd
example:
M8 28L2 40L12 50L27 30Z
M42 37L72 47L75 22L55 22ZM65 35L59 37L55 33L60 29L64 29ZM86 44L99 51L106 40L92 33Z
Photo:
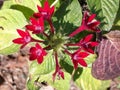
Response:
M87 57L89 54L86 52L81 52L81 50L77 50L73 54L71 54L72 62L74 64L74 68L77 69L78 64L81 66L87 67L87 63L85 62L84 58Z

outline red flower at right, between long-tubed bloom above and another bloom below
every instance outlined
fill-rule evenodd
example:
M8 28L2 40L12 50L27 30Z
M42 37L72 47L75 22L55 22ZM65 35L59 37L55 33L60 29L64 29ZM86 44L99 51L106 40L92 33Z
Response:
M99 43L91 41L92 38L93 38L93 35L90 34L85 38L81 39L76 45L81 46L83 50L94 54L94 51L92 49L93 47L97 46Z

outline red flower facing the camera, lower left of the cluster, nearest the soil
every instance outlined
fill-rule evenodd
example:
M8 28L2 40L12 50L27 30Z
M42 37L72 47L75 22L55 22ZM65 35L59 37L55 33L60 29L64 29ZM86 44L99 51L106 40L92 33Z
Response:
M46 51L38 43L36 43L35 47L30 48L30 60L37 59L39 64L43 62L43 57L46 55Z

